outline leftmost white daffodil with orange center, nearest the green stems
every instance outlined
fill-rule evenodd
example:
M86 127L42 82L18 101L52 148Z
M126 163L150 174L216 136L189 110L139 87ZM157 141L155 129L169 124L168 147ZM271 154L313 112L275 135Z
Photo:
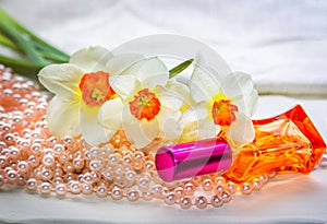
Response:
M47 120L50 131L59 137L82 134L92 145L108 141L121 128L122 107L109 83L138 56L117 56L102 47L78 50L69 63L50 64L38 73L41 84L55 94L49 103ZM110 129L98 122L104 104L116 105Z

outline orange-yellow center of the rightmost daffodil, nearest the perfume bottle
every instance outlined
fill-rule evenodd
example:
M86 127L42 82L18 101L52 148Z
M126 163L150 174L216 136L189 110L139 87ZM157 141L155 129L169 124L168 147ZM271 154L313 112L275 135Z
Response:
M210 102L211 116L214 122L219 126L230 126L235 119L235 111L239 111L237 105L227 98L222 93L219 93Z

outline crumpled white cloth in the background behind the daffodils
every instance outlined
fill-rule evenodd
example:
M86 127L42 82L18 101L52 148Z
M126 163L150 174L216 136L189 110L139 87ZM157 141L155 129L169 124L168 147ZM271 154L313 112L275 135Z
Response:
M263 94L327 95L327 2L0 0L19 21L73 52L172 33L209 45Z

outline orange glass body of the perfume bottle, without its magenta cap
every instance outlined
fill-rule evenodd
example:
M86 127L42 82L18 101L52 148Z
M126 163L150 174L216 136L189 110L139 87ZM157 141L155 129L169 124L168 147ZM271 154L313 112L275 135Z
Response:
M293 170L308 174L326 144L300 105L279 116L253 120L255 140L241 146L223 176L243 182L263 174Z

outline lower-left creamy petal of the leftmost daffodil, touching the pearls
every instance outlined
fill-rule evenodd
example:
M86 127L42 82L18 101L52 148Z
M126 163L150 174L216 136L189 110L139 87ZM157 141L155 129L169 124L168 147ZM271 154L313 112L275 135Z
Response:
M80 134L80 110L78 102L63 102L55 96L48 106L48 126L55 135L78 135Z

